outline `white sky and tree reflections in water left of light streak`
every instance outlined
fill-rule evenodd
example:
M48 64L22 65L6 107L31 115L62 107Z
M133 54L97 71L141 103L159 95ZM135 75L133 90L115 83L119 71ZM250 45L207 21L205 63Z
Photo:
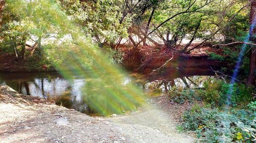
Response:
M0 74L0 83L5 83L18 93L47 98L57 96L58 104L78 111L87 112L88 107L82 100L80 87L84 84L82 77L69 82L56 74Z

